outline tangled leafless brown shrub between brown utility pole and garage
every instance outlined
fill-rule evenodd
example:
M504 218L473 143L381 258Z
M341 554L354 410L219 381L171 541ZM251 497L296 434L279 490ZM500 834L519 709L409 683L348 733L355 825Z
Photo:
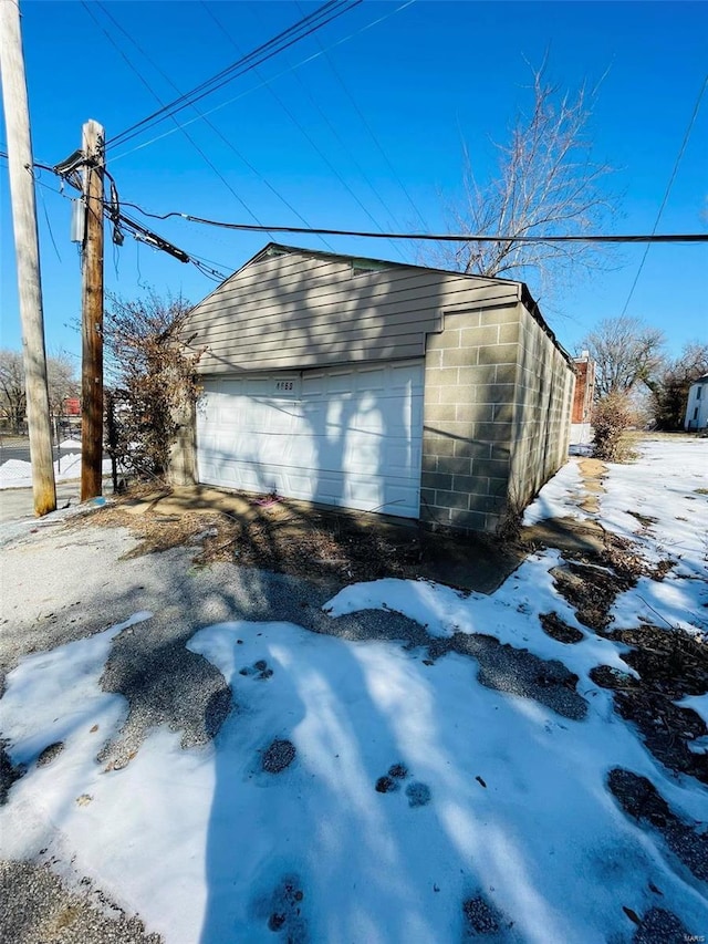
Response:
M108 452L140 477L162 478L179 428L179 411L196 398L195 366L183 331L191 305L178 295L162 299L110 297L104 320Z

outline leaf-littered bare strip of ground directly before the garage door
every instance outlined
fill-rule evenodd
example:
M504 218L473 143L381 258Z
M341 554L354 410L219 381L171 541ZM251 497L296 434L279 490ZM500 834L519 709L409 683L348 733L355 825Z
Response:
M431 533L400 518L204 486L126 496L95 522L127 527L140 539L136 553L191 542L201 547L198 564L222 561L342 583L397 577L491 593L525 557L523 548L487 536Z

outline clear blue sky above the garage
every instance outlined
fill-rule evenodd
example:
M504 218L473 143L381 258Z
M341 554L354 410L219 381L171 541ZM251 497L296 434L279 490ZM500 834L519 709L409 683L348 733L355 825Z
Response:
M80 145L87 118L100 121L110 141L158 107L146 85L171 101L174 86L188 91L317 4L90 0L91 13L81 2L20 0L20 7L34 157L53 165ZM503 142L517 111L529 104L527 60L539 64L546 50L550 77L571 91L606 73L590 134L594 156L617 168L612 187L621 195L621 215L611 229L649 232L706 75L704 2L365 0L200 103L202 111L221 106L210 121L229 144L202 121L188 132L231 189L169 122L111 148L108 169L123 201L154 212L237 222L253 221L252 214L270 225L299 225L299 214L311 225L343 229L419 230L425 221L430 231L444 231L445 200L461 194L462 139L483 177L496 159L491 142ZM179 121L194 117L185 111ZM69 241L70 203L54 193L53 175L44 172L39 180L48 351L77 355L81 273ZM266 234L135 216L225 273L269 241ZM1 344L19 349L4 160L0 222ZM659 231L707 229L708 94ZM281 241L398 261L400 249L407 261L419 258L415 245L381 240ZM548 304L541 298L569 350L601 319L621 314L643 253L643 247L624 247L612 271L590 280L579 274ZM654 246L626 313L663 329L670 353L707 341L708 302L699 290L707 271L704 245ZM121 249L107 241L107 290L133 299L145 286L197 302L215 283L131 237Z

